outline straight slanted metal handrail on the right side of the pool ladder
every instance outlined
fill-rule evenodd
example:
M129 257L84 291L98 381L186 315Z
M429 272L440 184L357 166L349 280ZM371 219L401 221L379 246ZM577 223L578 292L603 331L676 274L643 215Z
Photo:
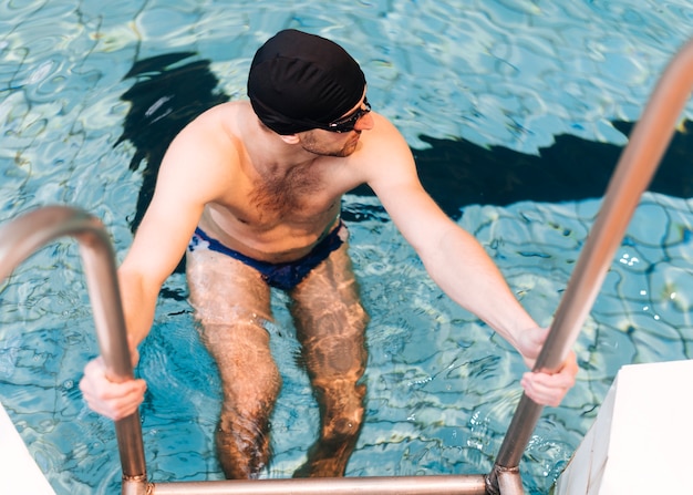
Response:
M693 39L662 74L611 177L601 209L560 301L535 371L557 372L580 333L616 250L673 136L693 89ZM492 494L523 493L518 465L541 406L523 395L487 479Z

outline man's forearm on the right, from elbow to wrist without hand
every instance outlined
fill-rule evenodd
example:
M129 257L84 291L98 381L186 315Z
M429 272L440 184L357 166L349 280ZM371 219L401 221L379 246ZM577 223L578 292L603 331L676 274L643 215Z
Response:
M520 350L519 334L537 323L525 311L482 245L452 225L422 256L431 278L463 308L472 311Z

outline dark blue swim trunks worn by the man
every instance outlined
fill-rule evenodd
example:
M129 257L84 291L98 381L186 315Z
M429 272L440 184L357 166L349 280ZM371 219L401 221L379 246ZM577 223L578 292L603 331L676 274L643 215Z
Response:
M289 262L271 264L258 261L234 249L229 249L199 228L195 229L195 235L190 239L188 249L194 251L200 243L205 241L207 243L207 249L230 256L258 270L262 276L262 280L271 287L291 290L310 274L310 270L324 261L332 251L339 249L339 247L344 244L344 240L340 236L342 229L346 229L346 226L340 220L339 225L318 243L312 251L296 261Z

